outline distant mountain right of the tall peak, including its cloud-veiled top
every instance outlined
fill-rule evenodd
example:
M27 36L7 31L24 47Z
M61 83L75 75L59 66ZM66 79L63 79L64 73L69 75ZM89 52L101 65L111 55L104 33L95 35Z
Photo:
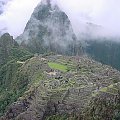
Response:
M83 51L92 59L120 70L120 37L108 34L104 27L93 23L86 23L84 29L79 33Z

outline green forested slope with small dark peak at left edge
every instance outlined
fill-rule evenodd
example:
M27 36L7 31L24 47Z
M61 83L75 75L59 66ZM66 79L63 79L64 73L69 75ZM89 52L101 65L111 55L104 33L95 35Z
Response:
M19 67L33 54L21 48L8 33L0 38L0 115L2 115L8 105L13 103L22 94L23 89L18 88L22 78L17 78L20 74ZM21 83L21 86L24 83ZM20 85L19 85L20 86ZM24 85L23 85L24 86ZM22 86L22 87L23 87Z

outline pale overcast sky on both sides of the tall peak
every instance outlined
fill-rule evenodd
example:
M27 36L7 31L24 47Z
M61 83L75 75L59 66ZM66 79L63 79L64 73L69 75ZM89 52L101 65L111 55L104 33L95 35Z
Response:
M2 1L2 0L0 0ZM4 0L3 0L4 1ZM34 8L41 0L11 0L0 15L0 30L14 37L21 34ZM120 35L120 0L53 0L69 16L74 31L91 22Z

